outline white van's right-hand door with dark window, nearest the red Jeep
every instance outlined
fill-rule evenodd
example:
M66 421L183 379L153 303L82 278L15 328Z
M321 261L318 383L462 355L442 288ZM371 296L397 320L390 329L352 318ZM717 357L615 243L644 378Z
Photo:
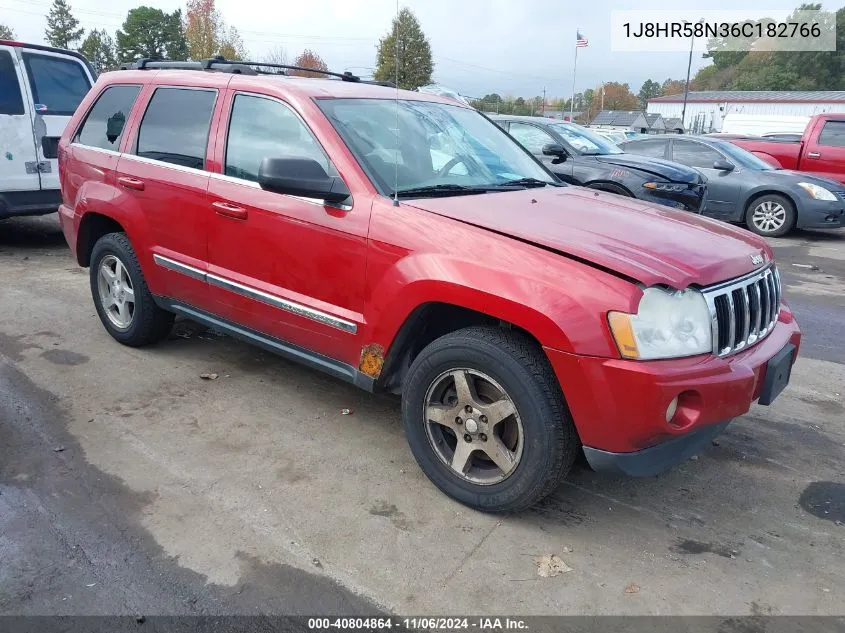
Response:
M59 188L59 138L94 78L81 59L53 51L19 48L26 98L31 104L31 135L41 189Z

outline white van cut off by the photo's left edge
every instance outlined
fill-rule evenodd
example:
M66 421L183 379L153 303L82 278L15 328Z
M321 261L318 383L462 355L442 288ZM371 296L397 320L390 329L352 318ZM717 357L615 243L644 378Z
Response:
M59 137L94 76L74 51L0 40L0 218L58 209Z

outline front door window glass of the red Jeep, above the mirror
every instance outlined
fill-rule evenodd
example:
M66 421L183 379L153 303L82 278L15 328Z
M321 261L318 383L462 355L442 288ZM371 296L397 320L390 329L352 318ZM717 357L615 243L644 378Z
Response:
M336 176L323 148L289 107L264 97L235 95L226 142L225 174L258 180L265 158L311 158Z

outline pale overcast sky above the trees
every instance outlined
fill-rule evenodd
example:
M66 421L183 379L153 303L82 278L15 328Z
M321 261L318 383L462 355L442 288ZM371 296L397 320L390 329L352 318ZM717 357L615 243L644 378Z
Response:
M86 29L113 33L137 0L69 0ZM19 39L42 42L51 0L0 0L0 22ZM749 17L766 10L790 9L798 0L708 0L707 9L747 9ZM144 2L166 11L183 7L178 0ZM685 53L613 53L612 9L660 9L665 0L400 0L411 8L431 41L435 81L480 97L502 95L568 97L572 91L575 30L589 40L578 52L576 89L602 81L622 81L636 93L646 79L683 79ZM842 0L825 2L827 9ZM742 6L737 6L742 5ZM217 0L226 21L240 31L254 57L281 45L289 60L303 48L320 54L332 70L372 72L376 44L390 28L395 0ZM693 58L693 73L707 60Z

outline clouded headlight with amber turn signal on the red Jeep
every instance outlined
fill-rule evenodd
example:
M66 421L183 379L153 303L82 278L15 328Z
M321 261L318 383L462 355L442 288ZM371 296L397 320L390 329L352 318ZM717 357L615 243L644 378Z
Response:
M697 290L646 288L636 314L609 312L607 320L624 358L679 358L713 349L710 309Z

